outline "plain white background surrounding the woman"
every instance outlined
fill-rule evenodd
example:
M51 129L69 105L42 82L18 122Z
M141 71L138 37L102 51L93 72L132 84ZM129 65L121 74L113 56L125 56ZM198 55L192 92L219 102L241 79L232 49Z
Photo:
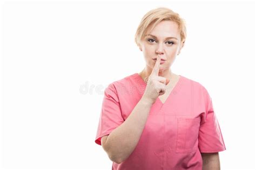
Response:
M212 97L221 169L255 169L254 2L2 2L1 169L111 169L95 143L106 86L144 66L140 19L186 20L172 72Z

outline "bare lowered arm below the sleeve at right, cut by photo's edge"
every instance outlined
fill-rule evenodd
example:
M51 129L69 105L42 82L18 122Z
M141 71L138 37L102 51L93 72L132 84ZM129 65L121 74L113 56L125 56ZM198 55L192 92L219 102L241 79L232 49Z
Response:
M219 154L201 153L203 159L203 170L220 170Z

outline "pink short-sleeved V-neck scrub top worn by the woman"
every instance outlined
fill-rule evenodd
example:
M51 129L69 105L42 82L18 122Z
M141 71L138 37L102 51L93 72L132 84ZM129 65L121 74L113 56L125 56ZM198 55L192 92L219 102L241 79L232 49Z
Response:
M169 97L152 105L130 156L112 169L202 169L201 152L226 150L210 95L199 82L180 76ZM104 91L95 143L130 115L144 94L138 73L114 81ZM132 132L131 132L132 133Z

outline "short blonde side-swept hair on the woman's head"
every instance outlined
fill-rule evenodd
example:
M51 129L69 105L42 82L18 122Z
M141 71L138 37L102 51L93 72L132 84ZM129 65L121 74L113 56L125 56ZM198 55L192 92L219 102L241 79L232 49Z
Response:
M147 12L142 20L140 21L140 24L137 28L136 34L135 34L135 42L137 46L141 47L142 39L145 36L145 33L148 31L148 28L152 26L151 32L154 27L160 23L162 20L171 20L173 22L176 22L178 24L178 29L180 32L180 38L181 42L185 42L186 39L186 25L185 20L183 18L180 18L179 14L176 12L173 12L169 8L165 7L159 7L156 9L152 9L149 12Z

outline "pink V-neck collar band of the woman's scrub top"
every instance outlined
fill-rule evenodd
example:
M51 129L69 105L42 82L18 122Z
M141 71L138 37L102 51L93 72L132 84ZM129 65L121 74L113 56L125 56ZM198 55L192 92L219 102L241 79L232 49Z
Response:
M134 75L137 76L137 79L138 79L139 84L141 84L142 87L143 87L144 90L145 90L145 88L146 88L146 86L147 86L147 83L142 79L142 77L141 77L138 73L135 73ZM179 78L178 82L177 82L176 85L173 87L171 93L170 93L169 96L166 98L166 100L165 100L164 103L161 102L161 100L160 100L159 97L157 97L157 100L156 100L155 103L159 103L159 104L161 105L161 108L163 107L163 105L165 105L166 103L169 102L171 96L176 95L176 94L178 93L178 90L180 89L180 84L181 84L181 82L182 82L183 79L184 79L183 76L181 76L181 75L179 75L179 76L180 76L180 78Z

